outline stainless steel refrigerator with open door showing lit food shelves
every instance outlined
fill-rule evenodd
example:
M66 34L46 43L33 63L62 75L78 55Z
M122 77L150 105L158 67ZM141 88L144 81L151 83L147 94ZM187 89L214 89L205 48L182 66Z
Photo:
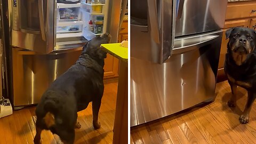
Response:
M8 4L15 109L38 103L91 38L108 32L117 42L121 0L9 0Z

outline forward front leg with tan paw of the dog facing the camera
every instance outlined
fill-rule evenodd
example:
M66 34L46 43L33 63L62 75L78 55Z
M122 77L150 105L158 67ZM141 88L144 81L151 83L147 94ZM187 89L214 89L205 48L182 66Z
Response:
M249 123L249 117L250 117L250 111L252 108L252 103L254 102L256 98L256 94L248 91L247 92L247 102L243 111L243 114L239 117L239 122L241 124Z

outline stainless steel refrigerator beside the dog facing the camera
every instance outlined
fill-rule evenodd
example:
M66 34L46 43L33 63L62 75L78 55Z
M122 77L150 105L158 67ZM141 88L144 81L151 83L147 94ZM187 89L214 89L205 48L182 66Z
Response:
M131 0L131 126L214 100L227 2Z

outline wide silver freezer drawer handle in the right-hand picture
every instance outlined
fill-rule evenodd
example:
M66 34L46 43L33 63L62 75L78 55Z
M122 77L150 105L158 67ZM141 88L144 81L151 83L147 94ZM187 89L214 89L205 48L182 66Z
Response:
M182 54L188 51L199 49L213 43L220 35L203 35L192 38L175 39L172 54Z

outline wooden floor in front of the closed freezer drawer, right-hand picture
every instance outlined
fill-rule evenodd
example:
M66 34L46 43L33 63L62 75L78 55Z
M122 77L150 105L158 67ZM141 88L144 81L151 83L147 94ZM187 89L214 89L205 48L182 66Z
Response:
M253 103L249 124L239 124L247 94L238 88L237 107L231 109L227 83L217 84L217 98L202 108L169 116L131 129L131 143L256 143L256 105Z

